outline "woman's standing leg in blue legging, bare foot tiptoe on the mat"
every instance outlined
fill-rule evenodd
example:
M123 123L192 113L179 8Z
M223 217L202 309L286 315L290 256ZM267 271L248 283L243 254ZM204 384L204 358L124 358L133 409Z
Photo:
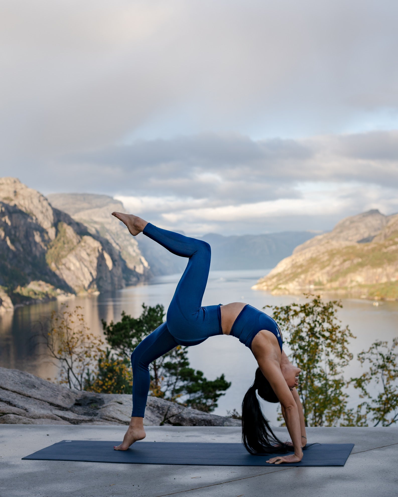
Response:
M166 323L160 325L139 343L131 354L133 368L133 412L123 442L115 450L127 450L137 440L145 438L143 417L148 397L150 374L149 364L166 354L178 344L167 329Z

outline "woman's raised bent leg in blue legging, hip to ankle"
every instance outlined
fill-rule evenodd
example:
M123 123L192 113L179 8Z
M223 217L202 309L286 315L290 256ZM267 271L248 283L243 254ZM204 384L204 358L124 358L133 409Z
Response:
M201 303L210 268L209 244L157 228L151 223L145 226L143 234L170 252L189 258L167 311L167 325L179 341L189 344L191 341L199 343L205 340L209 336L209 329L207 323L204 323L205 313ZM218 328L215 334L217 333Z

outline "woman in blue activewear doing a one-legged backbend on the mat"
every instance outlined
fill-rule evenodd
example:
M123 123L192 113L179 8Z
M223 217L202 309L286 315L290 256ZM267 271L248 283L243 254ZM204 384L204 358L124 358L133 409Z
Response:
M231 334L251 349L259 365L255 381L242 403L242 438L246 449L252 454L286 453L292 452L293 445L293 455L275 457L268 462L300 461L306 442L304 416L295 388L300 369L291 364L283 352L282 336L275 321L241 302L201 307L210 267L210 246L157 228L137 216L112 214L127 226L131 235L143 232L170 252L189 258L166 322L142 340L131 354L133 412L123 442L114 447L115 450L126 450L145 438L143 418L150 383L149 364L179 344L197 345L209 336ZM256 391L266 401L281 403L291 443L282 442L273 433L261 412Z

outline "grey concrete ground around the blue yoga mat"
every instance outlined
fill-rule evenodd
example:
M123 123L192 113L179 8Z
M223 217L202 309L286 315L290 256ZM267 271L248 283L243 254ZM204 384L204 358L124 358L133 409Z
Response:
M148 426L147 441L237 442L236 427ZM65 439L121 440L125 426L0 426L0 497L396 497L398 428L308 428L308 442L355 443L344 467L174 466L21 458ZM278 434L287 438L284 428Z

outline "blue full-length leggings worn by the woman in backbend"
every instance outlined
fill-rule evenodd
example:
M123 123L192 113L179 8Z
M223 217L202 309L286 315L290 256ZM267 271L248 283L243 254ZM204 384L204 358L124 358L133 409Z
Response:
M144 235L170 252L188 257L167 311L166 323L142 340L131 354L133 412L144 417L149 392L149 364L177 345L197 345L209 336L222 334L220 306L201 307L210 267L210 246L202 240L162 230L148 223Z

